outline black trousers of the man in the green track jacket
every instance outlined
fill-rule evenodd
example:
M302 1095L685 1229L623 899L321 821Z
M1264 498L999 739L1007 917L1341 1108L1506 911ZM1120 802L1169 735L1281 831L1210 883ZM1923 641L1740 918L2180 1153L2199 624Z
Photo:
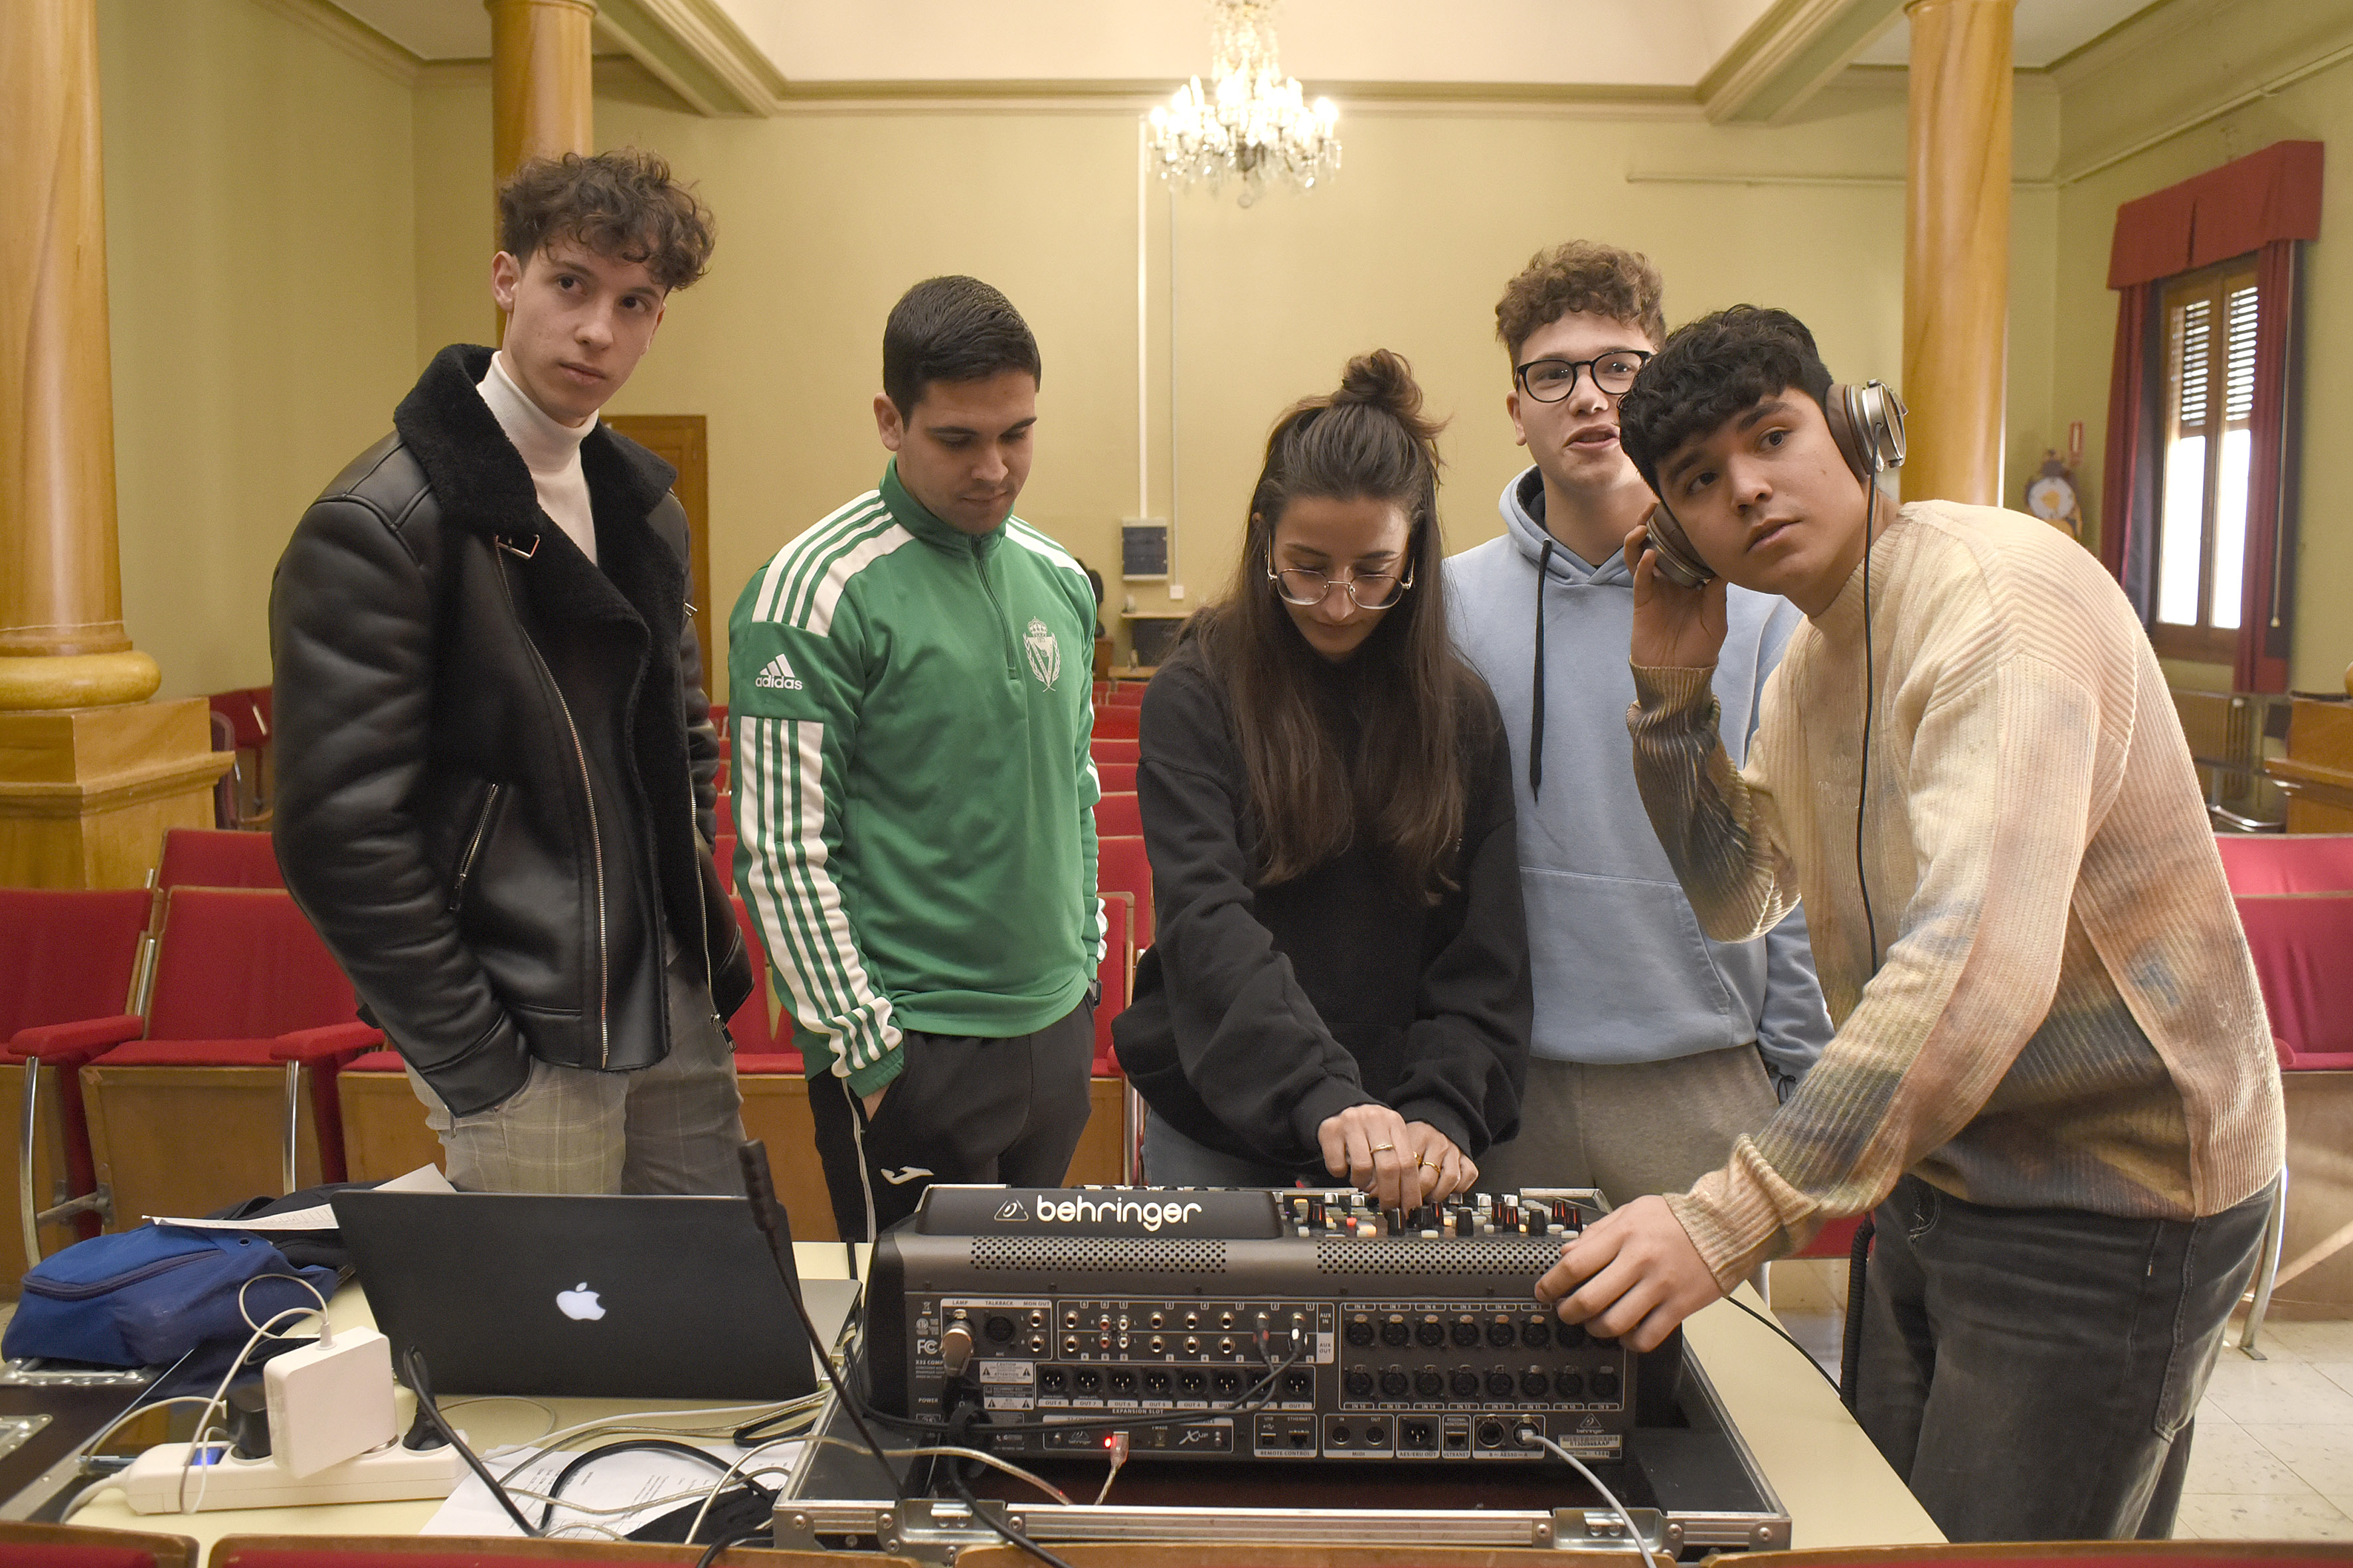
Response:
M831 1072L809 1079L809 1119L833 1222L873 1241L915 1213L932 1182L1059 1187L1087 1131L1094 1009L1035 1034L901 1034L906 1065L873 1119Z

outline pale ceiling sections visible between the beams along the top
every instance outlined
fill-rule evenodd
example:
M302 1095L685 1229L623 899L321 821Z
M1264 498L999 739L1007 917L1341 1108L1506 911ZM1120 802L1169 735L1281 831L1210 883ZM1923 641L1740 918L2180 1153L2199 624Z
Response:
M480 0L334 0L419 59L482 59ZM715 0L788 82L1162 82L1209 66L1205 0ZM1282 66L1332 82L1689 87L1772 0L1287 0ZM2047 66L2148 0L2019 0ZM1901 66L1899 16L1859 56Z

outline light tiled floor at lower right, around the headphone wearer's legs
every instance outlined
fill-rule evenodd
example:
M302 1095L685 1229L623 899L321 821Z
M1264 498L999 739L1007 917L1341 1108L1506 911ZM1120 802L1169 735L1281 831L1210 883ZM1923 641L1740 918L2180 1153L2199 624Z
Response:
M1777 1262L1774 1314L1838 1371L1842 1262ZM2177 1537L2353 1540L2353 1319L2264 1324L2252 1361L2238 1321L2207 1380Z

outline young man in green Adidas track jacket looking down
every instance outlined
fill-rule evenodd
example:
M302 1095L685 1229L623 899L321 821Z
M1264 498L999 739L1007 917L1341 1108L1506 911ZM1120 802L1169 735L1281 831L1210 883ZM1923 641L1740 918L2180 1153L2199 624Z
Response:
M727 623L736 884L852 1239L934 1180L1056 1185L1087 1124L1094 590L1012 515L1038 371L988 284L908 289L880 489L779 550Z

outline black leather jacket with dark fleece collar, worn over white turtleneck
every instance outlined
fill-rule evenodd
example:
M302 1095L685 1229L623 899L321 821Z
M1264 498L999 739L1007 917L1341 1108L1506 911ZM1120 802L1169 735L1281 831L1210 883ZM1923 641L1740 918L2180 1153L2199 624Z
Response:
M362 1016L456 1114L529 1058L668 1056L664 936L718 1013L753 969L711 863L718 736L668 463L581 444L591 562L475 383L435 355L271 588L278 863Z

